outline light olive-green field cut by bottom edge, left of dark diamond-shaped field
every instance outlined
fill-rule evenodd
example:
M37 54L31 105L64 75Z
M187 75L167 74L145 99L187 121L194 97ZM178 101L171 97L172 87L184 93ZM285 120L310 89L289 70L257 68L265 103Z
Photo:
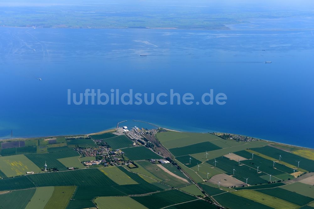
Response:
M130 209L145 209L139 202L133 200L131 197L97 197L95 199L97 207L99 209L110 209L110 208L130 208Z

